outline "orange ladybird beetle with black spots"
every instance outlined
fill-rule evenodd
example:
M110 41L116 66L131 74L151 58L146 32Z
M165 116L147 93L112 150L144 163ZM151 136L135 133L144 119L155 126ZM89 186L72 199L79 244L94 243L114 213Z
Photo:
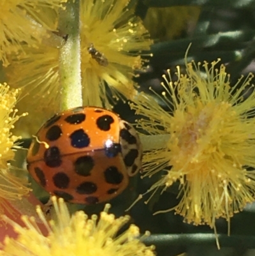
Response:
M55 114L27 153L27 169L50 194L77 204L119 195L141 168L142 144L131 126L99 107Z

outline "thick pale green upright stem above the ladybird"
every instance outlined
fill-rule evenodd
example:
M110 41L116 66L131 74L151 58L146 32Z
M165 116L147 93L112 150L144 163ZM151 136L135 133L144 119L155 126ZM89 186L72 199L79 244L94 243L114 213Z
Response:
M69 0L59 13L59 32L66 38L59 50L61 110L82 106L79 9L79 0Z

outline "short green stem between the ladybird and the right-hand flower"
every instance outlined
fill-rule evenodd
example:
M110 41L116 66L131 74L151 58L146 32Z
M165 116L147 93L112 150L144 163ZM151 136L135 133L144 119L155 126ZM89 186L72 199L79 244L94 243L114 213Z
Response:
M170 139L169 134L165 135L140 135L140 140L143 145L143 151L161 149L166 147L168 140Z

